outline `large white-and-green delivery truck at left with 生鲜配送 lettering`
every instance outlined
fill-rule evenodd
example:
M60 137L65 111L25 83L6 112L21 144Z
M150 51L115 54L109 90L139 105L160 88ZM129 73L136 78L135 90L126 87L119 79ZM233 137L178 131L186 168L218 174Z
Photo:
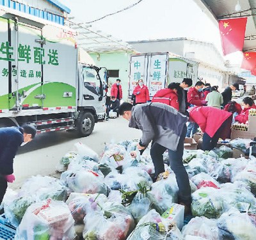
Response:
M15 13L13 13L15 12ZM105 116L108 71L83 61L77 33L18 11L0 10L0 127L88 136Z

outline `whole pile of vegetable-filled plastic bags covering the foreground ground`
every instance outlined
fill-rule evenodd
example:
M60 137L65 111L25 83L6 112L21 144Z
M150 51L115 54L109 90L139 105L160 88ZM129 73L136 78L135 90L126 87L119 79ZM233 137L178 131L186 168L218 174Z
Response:
M60 179L31 177L18 193L7 193L4 211L18 227L15 239L254 239L256 158L231 158L226 146L184 151L193 218L183 226L168 154L166 172L153 183L149 150L131 157L137 143L106 144L101 156L78 143L60 160Z

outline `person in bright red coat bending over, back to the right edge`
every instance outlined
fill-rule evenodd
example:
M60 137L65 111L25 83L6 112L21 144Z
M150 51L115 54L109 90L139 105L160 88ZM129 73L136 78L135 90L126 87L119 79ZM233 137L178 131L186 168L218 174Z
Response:
M203 135L203 150L210 151L217 146L218 140L230 136L232 112L216 107L192 107L188 109L189 121L197 123Z

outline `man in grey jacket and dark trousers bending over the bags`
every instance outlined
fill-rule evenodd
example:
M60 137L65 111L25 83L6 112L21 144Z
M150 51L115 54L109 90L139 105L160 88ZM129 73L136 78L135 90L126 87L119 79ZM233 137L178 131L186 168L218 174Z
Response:
M129 121L130 128L142 131L138 149L145 149L150 142L150 155L154 163L155 178L164 172L163 153L168 149L170 167L179 186L179 203L190 209L191 188L188 174L182 163L186 122L188 117L163 103L143 103L132 106L122 103L119 113ZM186 210L185 210L186 211Z

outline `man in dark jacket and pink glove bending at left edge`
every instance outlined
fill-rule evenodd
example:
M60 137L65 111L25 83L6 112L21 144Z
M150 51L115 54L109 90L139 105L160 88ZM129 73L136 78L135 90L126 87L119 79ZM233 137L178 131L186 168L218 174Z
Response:
M30 125L21 128L0 128L0 204L7 188L7 182L13 183L13 158L19 146L30 142L36 134L36 129Z

